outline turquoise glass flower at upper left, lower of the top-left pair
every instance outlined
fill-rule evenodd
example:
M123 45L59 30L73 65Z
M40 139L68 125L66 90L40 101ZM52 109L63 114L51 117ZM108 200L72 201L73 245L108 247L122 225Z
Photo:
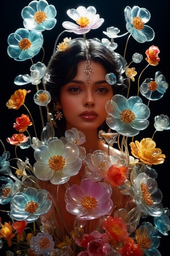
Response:
M29 31L26 28L18 28L7 38L9 46L8 55L17 61L31 59L39 53L44 42L41 32Z

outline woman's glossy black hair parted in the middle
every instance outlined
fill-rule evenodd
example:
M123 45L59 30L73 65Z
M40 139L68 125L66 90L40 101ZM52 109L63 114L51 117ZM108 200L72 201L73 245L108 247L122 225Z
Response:
M79 61L90 59L103 65L108 73L114 73L117 82L112 86L114 94L124 94L125 84L122 73L125 71L126 61L118 53L111 51L99 39L76 38L69 42L65 51L56 51L47 67L44 76L46 90L52 96L49 104L49 110L53 113L55 102L59 101L60 89L63 85L69 83L76 75ZM56 122L56 136L59 138L65 133L65 117ZM109 127L104 122L98 130L107 131Z

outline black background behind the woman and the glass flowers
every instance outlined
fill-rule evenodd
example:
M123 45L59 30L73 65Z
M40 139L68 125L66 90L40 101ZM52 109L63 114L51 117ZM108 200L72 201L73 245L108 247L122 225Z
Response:
M23 19L20 15L24 6L27 6L30 1L26 0L15 0L15 1L3 1L1 3L1 39L0 39L0 53L1 53L1 98L0 98L0 109L1 109L1 139L5 143L6 148L10 151L14 150L14 146L11 146L6 142L7 137L11 137L12 134L15 133L14 128L12 128L13 123L15 122L15 118L19 117L19 113L27 114L23 108L17 112L16 110L8 110L6 107L6 102L10 98L11 94L14 93L15 90L21 88L19 86L14 85L14 78L20 74L26 74L29 72L29 67L31 67L30 60L27 61L15 61L11 59L7 55L7 36L19 27L23 27ZM72 21L69 16L67 16L66 11L70 8L76 9L78 6L83 5L85 7L95 6L97 10L97 14L100 15L100 18L104 18L105 22L103 25L97 30L91 30L87 34L87 38L98 37L98 38L107 38L102 31L106 31L107 27L114 26L118 27L123 34L126 32L125 28L125 19L124 19L124 9L127 5L133 7L134 5L138 5L139 7L145 7L151 13L151 19L147 23L148 26L151 26L155 31L155 38L152 42L147 42L143 44L137 43L132 37L130 38L128 44L128 55L127 61L128 63L131 61L131 55L134 52L139 52L143 55L145 59L145 51L152 44L158 46L160 49L159 57L160 62L156 67L147 68L146 72L143 74L141 81L145 80L147 77L155 76L156 71L160 71L165 76L168 84L170 83L169 76L169 9L167 5L165 5L165 0L163 1L151 1L151 0L136 0L136 1L95 1L95 0L82 0L82 1L55 1L49 0L49 4L52 4L57 9L57 24L50 31L42 32L44 36L44 49L45 49L45 59L44 63L47 64L50 55L53 51L54 42L57 38L57 35L63 31L62 22L65 20ZM72 33L65 33L63 37L75 38L76 35ZM116 39L115 41L118 43L117 52L123 54L124 47L126 43L126 38ZM41 60L41 54L39 57ZM36 61L35 61L36 62ZM146 61L142 62L143 67L147 65ZM141 66L139 64L140 70ZM135 66L138 71L138 65ZM133 86L133 83L131 83ZM134 93L137 93L137 85L135 84ZM41 127L41 121L39 117L39 112L35 109L35 104L32 100L33 94L35 93L34 85L27 85L25 89L31 89L32 93L26 96L25 104L30 105L30 110L36 120L36 126ZM138 140L146 137L151 137L154 133L154 117L159 114L167 114L170 117L170 108L169 108L169 100L170 100L170 92L169 88L167 92L164 94L163 98L159 101L150 102L151 116L150 116L150 126L143 132L139 134ZM144 100L145 101L145 100ZM163 153L167 156L165 162L160 164L159 166L153 166L158 171L158 187L163 192L163 205L164 207L170 208L169 203L169 164L170 164L170 150L169 150L169 134L170 130L156 132L154 140L156 142L156 147L162 149ZM3 148L0 152L3 152ZM27 152L20 151L22 155L27 155ZM22 157L21 155L21 157ZM1 207L1 205L0 205ZM169 236L164 237L160 241L159 250L163 256L168 255L166 252L169 248L168 242L170 242ZM1 251L1 250L0 250Z

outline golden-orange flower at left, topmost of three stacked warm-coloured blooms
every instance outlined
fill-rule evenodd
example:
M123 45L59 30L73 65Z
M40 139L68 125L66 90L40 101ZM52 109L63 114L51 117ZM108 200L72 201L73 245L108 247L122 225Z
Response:
M10 100L6 102L7 108L18 110L20 106L24 104L26 94L30 92L31 90L25 89L15 90L14 94L11 95Z

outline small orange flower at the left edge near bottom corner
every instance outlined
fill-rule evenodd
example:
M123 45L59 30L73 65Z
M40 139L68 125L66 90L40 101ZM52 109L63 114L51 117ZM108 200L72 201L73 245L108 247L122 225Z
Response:
M12 233L12 226L11 226L11 222L5 222L5 224L1 224L1 229L0 229L0 238L4 238L7 243L8 246L11 246L11 239L12 237L14 237L15 234Z

